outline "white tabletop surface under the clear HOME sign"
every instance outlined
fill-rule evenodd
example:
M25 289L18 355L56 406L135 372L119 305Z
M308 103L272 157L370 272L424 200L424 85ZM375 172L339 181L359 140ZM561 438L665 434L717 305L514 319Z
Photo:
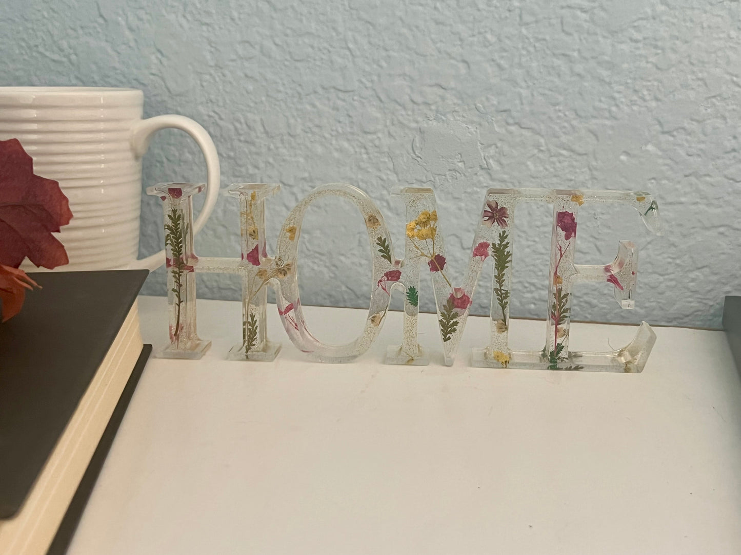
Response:
M657 328L642 374L386 366L402 314L351 364L312 363L269 307L273 363L224 360L239 303L199 300L202 360L150 359L70 555L740 554L741 384L722 332ZM353 337L365 311L305 307ZM166 339L165 299L141 297ZM545 324L512 323L539 349ZM574 349L631 326L574 324ZM609 343L609 344L608 344Z

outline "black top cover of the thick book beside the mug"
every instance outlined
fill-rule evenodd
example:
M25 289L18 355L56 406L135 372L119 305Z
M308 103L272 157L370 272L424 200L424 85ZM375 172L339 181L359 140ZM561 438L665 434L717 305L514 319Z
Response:
M0 324L1 519L19 513L124 320L132 317L147 274L30 274L43 289L29 292L21 313ZM141 351L139 343L136 354Z

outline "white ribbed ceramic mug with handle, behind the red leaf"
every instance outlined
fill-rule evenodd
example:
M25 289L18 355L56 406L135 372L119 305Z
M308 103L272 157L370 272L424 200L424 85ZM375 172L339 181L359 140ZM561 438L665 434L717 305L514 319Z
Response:
M73 218L56 234L70 263L59 270L156 269L165 251L139 255L142 155L159 129L187 132L203 151L206 201L199 232L219 194L219 158L206 130L182 115L142 120L144 95L135 89L0 87L0 140L17 138L33 172L59 181ZM21 268L36 270L25 260Z

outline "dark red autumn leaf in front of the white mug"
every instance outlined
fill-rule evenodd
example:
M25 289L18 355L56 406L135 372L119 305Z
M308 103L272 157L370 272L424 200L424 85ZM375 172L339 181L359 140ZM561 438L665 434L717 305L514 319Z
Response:
M0 264L18 268L26 257L49 269L69 263L52 232L71 218L59 183L34 175L18 139L0 141Z

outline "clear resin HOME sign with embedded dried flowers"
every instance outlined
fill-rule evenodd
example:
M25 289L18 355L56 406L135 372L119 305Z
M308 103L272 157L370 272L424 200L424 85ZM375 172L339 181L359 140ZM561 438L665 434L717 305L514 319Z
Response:
M167 297L170 305L170 344L162 357L199 358L210 346L196 334L195 272L231 273L242 277L242 343L228 357L233 360L273 360L279 343L268 340L265 310L267 287L276 292L276 303L285 331L308 357L327 363L342 363L363 354L379 334L391 302L391 292L404 295L404 327L401 344L388 347L386 362L427 364L428 355L417 343L419 272L431 273L433 293L442 338L445 363L453 364L468 319L471 297L481 270L494 263L491 289L491 333L488 345L473 349L473 366L551 370L596 370L639 372L645 366L656 335L643 322L634 340L617 351L569 351L572 289L580 281L607 281L624 309L634 307L638 248L620 241L617 257L602 266L574 264L579 208L588 203L622 203L634 206L645 225L659 232L657 203L645 192L581 191L577 189L489 189L486 192L471 260L463 283L456 286L448 277L442 222L438 220L432 189L405 188L398 194L407 209L403 259L396 258L391 235L378 207L364 192L347 184L328 184L310 192L283 223L274 256L265 243L265 199L278 185L235 184L230 194L239 199L242 228L241 258L197 257L193 247L193 195L202 184L160 184L147 192L162 198L165 205L167 249ZM298 244L306 209L325 196L353 202L368 231L373 250L371 307L365 327L356 340L329 345L308 330L299 300ZM514 254L511 237L516 226L516 206L523 202L545 202L554 206L551 236L551 269L548 281L548 319L542 351L516 351L508 344L509 307L512 293Z

